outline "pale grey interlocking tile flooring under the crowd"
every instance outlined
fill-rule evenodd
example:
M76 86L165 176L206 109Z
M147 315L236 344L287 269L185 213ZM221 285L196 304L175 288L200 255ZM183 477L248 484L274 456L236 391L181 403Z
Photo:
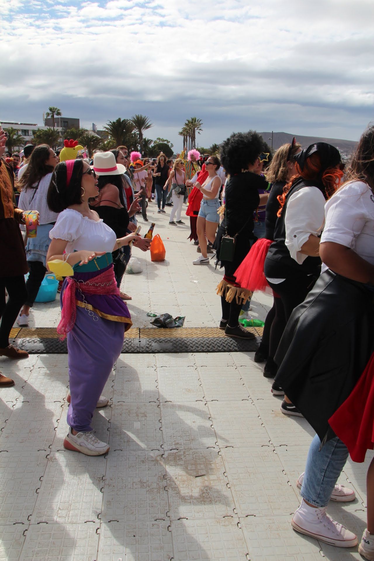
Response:
M126 275L123 287L134 326L149 327L151 310L215 327L222 273L193 266L188 219L169 227L154 206L167 261L134 251L144 272ZM264 319L269 304L255 295L253 316ZM58 301L37 304L30 327L58 319ZM1 359L0 368L16 381L0 401L0 560L360 559L291 529L313 431L281 414L251 353L121 355L104 392L110 405L95 415L96 434L110 443L100 458L62 447L66 355ZM371 457L341 475L357 499L329 507L359 536Z

